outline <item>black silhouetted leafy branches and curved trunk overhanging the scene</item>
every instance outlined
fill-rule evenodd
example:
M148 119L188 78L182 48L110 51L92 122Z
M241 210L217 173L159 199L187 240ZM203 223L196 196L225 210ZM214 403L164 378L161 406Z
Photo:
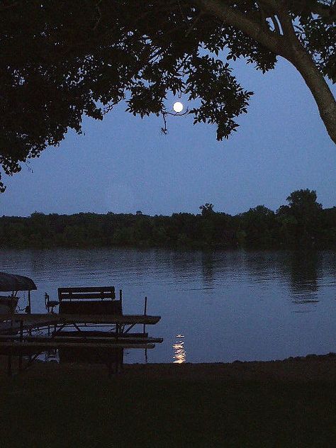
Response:
M336 103L324 79L336 79L334 3L4 0L0 164L18 172L69 128L81 133L84 115L101 120L123 99L134 115L167 113L169 92L197 99L194 123L213 123L218 140L228 138L252 94L224 61L238 57L262 72L277 56L291 62L336 142Z

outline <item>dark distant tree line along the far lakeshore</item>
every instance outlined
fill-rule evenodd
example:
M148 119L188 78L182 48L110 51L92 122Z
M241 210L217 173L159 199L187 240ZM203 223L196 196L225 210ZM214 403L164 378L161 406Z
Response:
M336 207L323 209L315 191L293 191L276 212L265 206L245 213L215 212L171 216L32 213L0 218L0 247L191 247L336 248Z

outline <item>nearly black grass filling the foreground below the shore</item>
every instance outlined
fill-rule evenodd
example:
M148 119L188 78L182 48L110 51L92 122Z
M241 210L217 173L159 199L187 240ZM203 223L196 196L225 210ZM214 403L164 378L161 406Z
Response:
M69 371L0 379L1 447L332 447L335 383L108 378Z

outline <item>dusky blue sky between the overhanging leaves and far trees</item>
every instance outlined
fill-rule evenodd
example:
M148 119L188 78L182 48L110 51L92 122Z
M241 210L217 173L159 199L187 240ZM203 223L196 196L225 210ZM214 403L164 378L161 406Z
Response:
M275 211L306 188L324 208L336 206L336 147L301 76L282 59L265 75L243 60L235 67L254 96L229 140L217 142L215 126L192 125L188 116L169 116L163 135L162 118L141 120L121 103L102 122L86 118L85 135L69 132L29 168L4 176L0 215L170 215L199 213L206 202L230 214L257 205Z

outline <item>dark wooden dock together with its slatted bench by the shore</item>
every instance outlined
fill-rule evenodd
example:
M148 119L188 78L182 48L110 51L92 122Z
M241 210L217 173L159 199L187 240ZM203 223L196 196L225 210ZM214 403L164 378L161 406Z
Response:
M116 299L113 286L60 288L58 296L59 301L46 303L47 313L0 313L0 354L8 356L9 375L12 357L18 357L22 371L50 350L57 350L64 362L91 359L106 364L111 374L112 364L115 372L123 368L124 349L145 349L147 359L147 349L163 341L146 332L147 325L160 320L147 315L147 298L143 314L127 315L122 310L122 291ZM56 305L58 313L53 312ZM142 332L130 332L135 325L141 325Z

